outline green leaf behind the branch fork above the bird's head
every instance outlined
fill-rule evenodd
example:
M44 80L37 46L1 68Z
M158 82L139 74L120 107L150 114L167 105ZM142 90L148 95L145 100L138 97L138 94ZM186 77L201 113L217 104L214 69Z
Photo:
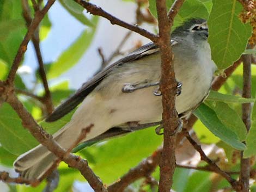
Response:
M169 10L173 4L172 1L167 1L167 9ZM149 10L150 12L157 18L156 13L156 1L149 0ZM209 16L208 10L206 9L204 3L200 2L199 0L186 0L179 13L176 15L174 19L174 27L179 26L184 21L188 20L188 18L192 17L199 17L207 19Z

